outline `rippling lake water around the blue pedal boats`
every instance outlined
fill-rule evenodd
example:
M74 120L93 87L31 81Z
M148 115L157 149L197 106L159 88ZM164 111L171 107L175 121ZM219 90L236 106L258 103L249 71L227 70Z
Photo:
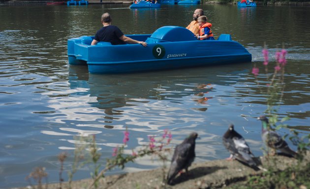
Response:
M260 91L266 86L256 85L251 68L256 63L263 70L264 45L271 63L280 48L288 51L279 117L290 116L286 124L310 132L309 7L128 6L0 7L0 188L27 186L25 177L37 166L46 168L49 183L57 183L61 152L70 155L63 173L67 180L76 135L95 135L104 165L113 148L122 144L126 127L129 153L164 129L173 135L171 146L196 131L201 139L195 161L200 162L229 156L221 137L232 123L253 153L262 155L256 118L267 108ZM231 34L252 54L252 63L119 75L89 74L87 66L68 65L67 39L94 35L104 12L111 13L112 24L125 34L139 34L166 25L186 27L198 7L213 24L215 37ZM282 129L285 133L289 130ZM142 158L108 174L158 166L156 160ZM89 178L90 172L83 167L73 179Z

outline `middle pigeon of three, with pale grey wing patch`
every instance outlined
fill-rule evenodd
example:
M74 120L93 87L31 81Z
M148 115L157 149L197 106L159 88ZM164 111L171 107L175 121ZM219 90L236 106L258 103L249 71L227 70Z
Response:
M250 167L257 168L254 155L251 153L246 140L234 130L234 125L230 125L223 135L223 144L231 153L230 158L235 158Z

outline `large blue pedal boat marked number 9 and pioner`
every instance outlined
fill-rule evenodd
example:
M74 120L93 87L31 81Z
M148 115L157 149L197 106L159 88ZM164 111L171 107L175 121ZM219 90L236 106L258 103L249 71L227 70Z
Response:
M198 40L183 27L164 26L153 34L126 35L141 44L112 45L98 42L93 36L68 39L70 64L87 64L91 73L124 73L177 69L214 64L251 62L252 56L229 34L217 40Z

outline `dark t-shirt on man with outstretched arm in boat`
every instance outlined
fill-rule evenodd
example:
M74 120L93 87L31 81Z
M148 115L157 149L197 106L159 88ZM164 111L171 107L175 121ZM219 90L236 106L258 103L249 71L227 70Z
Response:
M126 44L120 39L124 33L117 26L105 26L102 27L94 36L96 41L110 42L112 45Z

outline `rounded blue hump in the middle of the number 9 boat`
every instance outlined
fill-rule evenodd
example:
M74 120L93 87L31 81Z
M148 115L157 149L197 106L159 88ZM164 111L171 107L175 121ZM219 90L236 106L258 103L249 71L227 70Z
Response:
M158 28L151 38L164 41L195 41L198 40L195 35L186 28L179 26L164 26ZM162 41L161 41L162 42Z

